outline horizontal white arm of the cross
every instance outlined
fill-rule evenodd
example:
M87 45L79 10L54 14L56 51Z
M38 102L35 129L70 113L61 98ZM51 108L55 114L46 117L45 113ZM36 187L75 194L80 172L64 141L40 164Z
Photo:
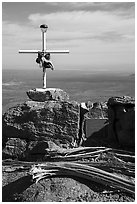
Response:
M46 51L42 51L42 50L19 50L19 53L24 53L24 54L33 54L33 53L51 53L51 54L67 54L69 53L69 50L46 50Z

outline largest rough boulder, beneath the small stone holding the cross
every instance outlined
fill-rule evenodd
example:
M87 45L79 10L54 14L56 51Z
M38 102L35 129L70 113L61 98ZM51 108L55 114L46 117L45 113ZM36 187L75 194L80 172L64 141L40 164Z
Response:
M79 104L77 102L27 101L3 115L4 138L53 141L65 147L77 146Z

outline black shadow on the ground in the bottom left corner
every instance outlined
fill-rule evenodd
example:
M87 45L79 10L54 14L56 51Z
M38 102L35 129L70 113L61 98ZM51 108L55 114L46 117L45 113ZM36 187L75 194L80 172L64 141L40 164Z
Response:
M24 176L2 188L2 202L15 202L15 196L32 185L31 176Z

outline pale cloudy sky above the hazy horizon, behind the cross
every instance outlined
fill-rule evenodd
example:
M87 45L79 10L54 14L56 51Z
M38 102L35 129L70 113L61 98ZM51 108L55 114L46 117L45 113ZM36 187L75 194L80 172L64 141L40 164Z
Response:
M135 4L132 2L3 2L2 59L5 68L35 68L41 49L41 24L48 25L47 48L57 69L134 72Z

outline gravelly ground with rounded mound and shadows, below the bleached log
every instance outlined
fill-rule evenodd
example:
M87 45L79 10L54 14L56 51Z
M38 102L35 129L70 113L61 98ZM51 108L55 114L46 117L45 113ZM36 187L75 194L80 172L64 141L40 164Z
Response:
M3 173L3 202L134 202L127 193L76 177L32 181L26 171Z

